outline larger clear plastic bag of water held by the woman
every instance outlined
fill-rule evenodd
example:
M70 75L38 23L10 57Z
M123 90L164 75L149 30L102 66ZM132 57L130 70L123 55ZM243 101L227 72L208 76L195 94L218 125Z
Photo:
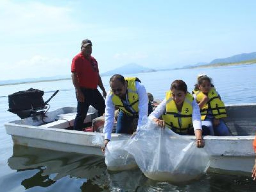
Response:
M204 148L197 148L194 141L149 120L137 130L128 140L126 150L148 178L184 182L198 178L209 167L208 154Z

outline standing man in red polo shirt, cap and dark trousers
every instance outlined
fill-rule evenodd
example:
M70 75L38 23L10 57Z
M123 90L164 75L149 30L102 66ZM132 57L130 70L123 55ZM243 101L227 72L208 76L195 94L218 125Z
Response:
M88 108L92 105L98 110L98 116L102 116L105 111L103 97L107 93L102 84L97 61L91 56L92 42L85 39L81 44L81 52L72 60L71 73L72 82L76 89L77 114L74 122L74 130L83 129L84 119ZM97 87L103 91L103 97Z

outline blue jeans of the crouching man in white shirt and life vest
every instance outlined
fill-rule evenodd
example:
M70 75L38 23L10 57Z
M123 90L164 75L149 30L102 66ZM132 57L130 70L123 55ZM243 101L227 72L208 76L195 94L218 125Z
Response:
M153 108L152 108L151 102L148 102L148 115L152 111L153 111ZM135 118L138 118L138 116L129 116L123 113L122 111L120 111L117 118L116 133L126 133L126 134L131 133L131 130L129 130L129 128L131 127L132 121Z

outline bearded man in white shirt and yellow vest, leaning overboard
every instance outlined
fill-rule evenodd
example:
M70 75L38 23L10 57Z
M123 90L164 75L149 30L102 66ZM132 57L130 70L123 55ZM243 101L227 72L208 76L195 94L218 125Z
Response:
M146 89L137 77L124 78L124 76L116 74L110 78L109 85L111 90L105 100L106 110L103 130L103 133L105 133L105 146L111 140L115 108L120 110L116 133L126 134L129 133L131 124L136 118L138 119L138 126L140 126L142 117L148 116L148 111L152 111ZM133 131L136 130L134 129Z

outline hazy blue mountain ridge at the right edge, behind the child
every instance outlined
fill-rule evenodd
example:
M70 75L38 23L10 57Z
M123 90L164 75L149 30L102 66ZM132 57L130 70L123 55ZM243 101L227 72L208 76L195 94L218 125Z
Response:
M217 63L218 64L219 63L237 63L237 62L241 62L241 61L254 60L254 59L256 59L256 52L242 53L242 54L233 55L233 56L227 57L227 58L215 59L215 60L212 60L208 64L212 65L212 64L217 64Z

